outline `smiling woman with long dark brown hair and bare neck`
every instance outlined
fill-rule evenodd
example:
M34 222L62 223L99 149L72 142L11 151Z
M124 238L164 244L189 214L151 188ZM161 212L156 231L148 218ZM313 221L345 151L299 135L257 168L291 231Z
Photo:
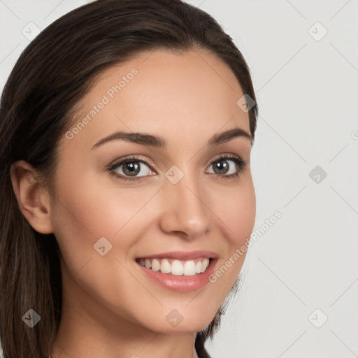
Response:
M52 23L1 98L7 358L209 357L255 222L241 52L180 0Z

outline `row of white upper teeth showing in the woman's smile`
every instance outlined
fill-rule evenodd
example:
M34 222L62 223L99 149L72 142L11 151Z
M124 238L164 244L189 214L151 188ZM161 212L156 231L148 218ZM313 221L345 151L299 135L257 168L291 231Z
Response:
M153 271L160 271L162 273L171 273L172 275L193 276L206 271L209 266L208 257L201 257L199 259L181 261L173 259L139 259L139 264L150 268Z

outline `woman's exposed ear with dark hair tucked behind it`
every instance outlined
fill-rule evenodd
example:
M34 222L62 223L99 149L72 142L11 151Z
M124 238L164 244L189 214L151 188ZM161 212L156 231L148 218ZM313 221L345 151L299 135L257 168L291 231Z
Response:
M10 168L11 182L22 215L41 234L53 232L48 190L36 179L36 170L31 164L20 160Z

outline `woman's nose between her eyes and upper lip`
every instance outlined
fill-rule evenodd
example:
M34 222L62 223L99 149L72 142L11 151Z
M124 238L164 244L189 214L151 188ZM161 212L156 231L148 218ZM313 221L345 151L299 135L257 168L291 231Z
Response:
M211 211L206 204L205 190L194 177L194 174L185 175L176 184L167 179L164 182L160 226L166 234L179 234L192 240L209 229Z

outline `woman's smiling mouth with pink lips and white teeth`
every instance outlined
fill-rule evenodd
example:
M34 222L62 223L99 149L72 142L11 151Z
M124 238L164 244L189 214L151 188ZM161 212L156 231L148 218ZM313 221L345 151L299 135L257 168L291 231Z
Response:
M215 252L166 252L138 257L136 264L145 278L176 291L195 291L208 284L218 256Z

